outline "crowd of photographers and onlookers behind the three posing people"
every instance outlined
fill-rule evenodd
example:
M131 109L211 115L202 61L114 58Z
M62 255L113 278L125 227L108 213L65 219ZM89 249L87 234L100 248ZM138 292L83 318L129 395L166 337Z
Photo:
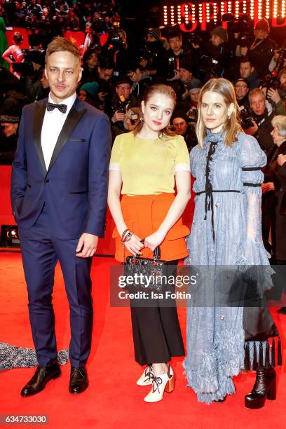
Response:
M0 20L5 18L8 25L17 22L27 27L26 18L32 14L41 20L46 8L52 20L64 16L65 25L71 16L81 16L81 20L73 21L73 29L84 28L86 34L81 46L79 97L109 116L114 138L134 127L144 90L151 83L161 82L175 89L177 108L170 125L184 135L191 149L196 144L200 88L208 79L224 76L233 82L245 132L258 139L266 154L273 149L271 121L275 115L286 114L286 54L269 37L270 28L264 18L257 22L248 43L241 43L239 34L233 35L221 26L193 39L182 34L179 27L172 27L163 29L163 33L158 28L147 29L141 35L142 43L135 46L132 34L120 27L119 7L114 0L0 1ZM17 21L23 8L24 23ZM99 22L104 31L108 30L104 46L100 44L103 27L98 27ZM23 104L47 96L44 57L53 36L53 32L32 32L29 50L22 49L19 32L13 35L13 45L1 43L0 113L6 118L19 118Z

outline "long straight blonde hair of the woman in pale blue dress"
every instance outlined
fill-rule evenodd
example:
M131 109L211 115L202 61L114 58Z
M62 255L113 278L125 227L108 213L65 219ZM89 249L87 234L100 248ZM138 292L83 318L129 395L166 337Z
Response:
M232 83L224 78L210 79L210 81L207 81L200 90L200 97L198 100L198 122L196 124L198 145L203 149L203 139L207 134L207 128L203 122L203 116L201 113L202 98L207 91L213 91L214 93L222 95L227 107L231 104L234 105L231 115L226 118L226 122L224 123L224 131L226 133L224 137L225 143L226 146L231 146L233 142L238 141L237 134L238 132L243 131L243 129L240 125L240 114L238 102L236 101L236 93L234 92Z

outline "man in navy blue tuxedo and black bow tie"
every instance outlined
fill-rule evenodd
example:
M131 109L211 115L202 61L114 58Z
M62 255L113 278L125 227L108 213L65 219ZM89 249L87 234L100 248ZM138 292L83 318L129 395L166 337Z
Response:
M60 376L52 292L60 261L70 308L69 391L88 387L93 329L90 266L104 235L111 146L109 119L76 97L81 55L57 37L46 53L48 100L24 107L11 200L20 231L29 318L39 367L22 388L34 395Z

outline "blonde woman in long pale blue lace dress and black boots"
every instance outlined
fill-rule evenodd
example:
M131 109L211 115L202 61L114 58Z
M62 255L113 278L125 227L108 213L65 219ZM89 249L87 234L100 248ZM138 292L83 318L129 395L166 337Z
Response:
M229 81L208 81L200 93L199 106L199 144L190 155L191 173L196 179L196 208L187 238L186 263L206 266L208 271L203 282L202 277L199 280L199 297L206 305L198 304L197 296L196 304L191 300L188 306L185 374L198 401L210 404L235 393L232 376L243 369L257 369L257 382L245 397L245 406L259 408L266 395L272 399L275 396L275 355L268 337L278 332L271 316L270 325L264 326L264 337L254 335L254 341L245 342L243 305L219 307L207 301L216 287L210 267L266 266L259 287L264 290L271 285L260 214L260 184L264 178L260 169L266 164L266 156L257 140L240 128L236 97Z

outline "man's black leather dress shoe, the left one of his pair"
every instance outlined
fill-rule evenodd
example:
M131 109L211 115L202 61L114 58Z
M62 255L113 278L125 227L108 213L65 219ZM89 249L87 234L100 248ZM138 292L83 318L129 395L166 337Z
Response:
M46 383L51 379L57 379L60 376L60 365L55 362L48 367L37 367L34 376L22 388L21 396L31 396L41 392L46 387Z

